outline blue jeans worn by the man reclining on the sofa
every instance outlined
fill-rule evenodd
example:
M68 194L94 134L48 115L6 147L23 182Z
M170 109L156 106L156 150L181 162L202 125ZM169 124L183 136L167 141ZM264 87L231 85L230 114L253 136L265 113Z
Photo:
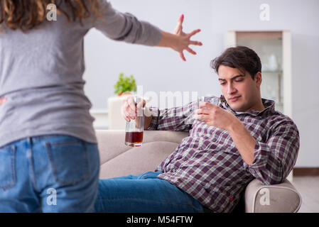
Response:
M161 172L99 180L96 212L203 212L200 202L165 179Z

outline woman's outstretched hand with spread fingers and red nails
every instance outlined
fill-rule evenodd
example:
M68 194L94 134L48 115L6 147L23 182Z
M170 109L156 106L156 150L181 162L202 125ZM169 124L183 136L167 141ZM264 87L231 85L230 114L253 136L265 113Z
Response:
M196 52L189 48L189 45L202 45L202 43L199 41L190 40L193 35L200 32L200 29L196 29L190 33L184 33L183 21L184 15L182 14L178 18L178 24L175 28L174 34L161 31L162 38L157 46L172 48L173 50L177 51L180 54L180 57L185 61L186 59L183 54L183 50L187 50L191 54L196 55Z

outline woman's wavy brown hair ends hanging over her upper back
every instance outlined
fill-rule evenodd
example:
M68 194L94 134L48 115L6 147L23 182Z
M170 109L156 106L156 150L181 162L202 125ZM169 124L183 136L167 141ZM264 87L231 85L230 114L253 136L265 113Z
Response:
M60 8L63 2L72 12L71 15ZM95 18L102 15L99 0L1 0L0 26L5 24L12 30L20 29L23 32L35 28L46 19L48 4L55 4L57 14L63 13L67 23L77 19L82 23L92 13Z

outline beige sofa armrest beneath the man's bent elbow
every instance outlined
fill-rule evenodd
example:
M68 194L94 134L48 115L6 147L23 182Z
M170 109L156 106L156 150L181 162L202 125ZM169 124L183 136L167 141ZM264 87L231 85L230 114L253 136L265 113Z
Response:
M247 213L296 213L301 206L301 194L288 179L273 185L254 179L245 189L244 200Z

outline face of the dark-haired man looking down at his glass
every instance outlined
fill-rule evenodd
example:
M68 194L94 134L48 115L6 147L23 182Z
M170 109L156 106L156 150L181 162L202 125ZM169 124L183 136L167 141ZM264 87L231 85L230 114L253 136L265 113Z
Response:
M225 65L218 68L218 80L230 108L234 111L249 111L254 109L260 98L261 74L252 79L249 72Z

